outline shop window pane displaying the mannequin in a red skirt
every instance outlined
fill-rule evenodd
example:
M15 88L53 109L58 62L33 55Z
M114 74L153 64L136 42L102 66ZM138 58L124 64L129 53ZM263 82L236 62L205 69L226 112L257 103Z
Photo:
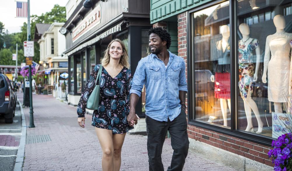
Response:
M193 114L190 119L230 127L229 1L192 13ZM247 21L252 22L250 17Z

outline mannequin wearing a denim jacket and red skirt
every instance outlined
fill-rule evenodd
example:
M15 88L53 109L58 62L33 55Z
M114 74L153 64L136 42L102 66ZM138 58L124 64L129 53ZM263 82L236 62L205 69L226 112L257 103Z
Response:
M227 126L227 104L226 99L228 101L228 107L229 111L230 109L230 46L229 46L229 37L230 37L230 29L227 25L223 25L220 28L220 33L222 35L222 40L219 40L216 42L213 55L217 56L218 54L221 54L220 58L218 57L218 63L215 64L214 73L215 75L211 75L210 79L212 82L215 82L215 98L220 98L220 107L221 112L223 115L223 126ZM219 75L222 75L221 78L219 78ZM215 77L218 77L217 80L215 80ZM222 79L222 77L225 77ZM229 82L229 85L228 85ZM225 84L225 85L224 85ZM223 89L220 89L220 86L227 87L224 91ZM225 95L220 95L221 92L224 92ZM217 96L217 97L216 97Z

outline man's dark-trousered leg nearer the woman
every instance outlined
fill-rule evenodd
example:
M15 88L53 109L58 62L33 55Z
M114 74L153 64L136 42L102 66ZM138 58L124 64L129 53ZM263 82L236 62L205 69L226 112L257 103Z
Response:
M156 121L146 116L147 151L149 170L164 170L161 161L162 147L167 133L168 124L165 121Z

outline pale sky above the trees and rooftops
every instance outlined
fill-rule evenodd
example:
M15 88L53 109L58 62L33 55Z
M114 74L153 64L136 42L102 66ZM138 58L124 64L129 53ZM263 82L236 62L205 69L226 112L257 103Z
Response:
M68 0L30 0L30 15L41 15L51 11L55 4L65 6L67 2ZM0 22L4 24L4 28L9 33L20 32L20 27L27 22L27 18L16 18L16 1L0 0L0 4Z

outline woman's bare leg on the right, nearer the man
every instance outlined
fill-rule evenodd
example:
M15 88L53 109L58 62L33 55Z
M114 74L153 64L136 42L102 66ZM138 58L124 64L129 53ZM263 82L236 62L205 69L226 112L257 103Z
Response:
M126 133L124 134L114 134L113 144L114 144L114 171L119 171L121 168L121 150L124 143Z

